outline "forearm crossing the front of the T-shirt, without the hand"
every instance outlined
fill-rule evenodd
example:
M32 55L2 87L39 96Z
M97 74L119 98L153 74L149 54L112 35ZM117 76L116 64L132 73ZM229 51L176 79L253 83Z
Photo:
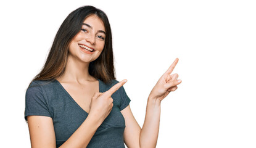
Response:
M67 139L67 141L62 144L59 148L65 147L75 147L75 148L85 148L91 138L93 138L94 133L97 128L101 125L101 121L93 118L93 115L88 115L86 120L81 124L81 126L75 131L75 133Z

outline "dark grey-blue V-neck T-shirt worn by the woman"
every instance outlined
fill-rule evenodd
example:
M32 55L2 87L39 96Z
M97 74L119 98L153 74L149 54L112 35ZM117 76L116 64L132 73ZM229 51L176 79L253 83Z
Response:
M117 80L112 80L111 84L98 81L99 92L105 92L118 83ZM112 111L99 126L87 147L125 147L123 142L125 118L120 111L129 105L130 99L123 86L112 94L112 98L114 104ZM88 116L88 113L55 79L33 81L27 89L25 102L25 120L29 115L52 118L56 134L56 147L60 147L67 141Z

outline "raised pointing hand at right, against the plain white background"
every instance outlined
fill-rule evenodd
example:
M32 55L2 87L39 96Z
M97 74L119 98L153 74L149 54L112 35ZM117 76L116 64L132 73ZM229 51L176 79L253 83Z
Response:
M173 72L178 60L179 59L176 58L170 68L168 68L167 72L163 73L149 94L149 98L159 99L159 101L162 101L171 91L175 91L178 88L177 85L181 83L181 80L177 80L178 74L175 73L171 75L171 72Z

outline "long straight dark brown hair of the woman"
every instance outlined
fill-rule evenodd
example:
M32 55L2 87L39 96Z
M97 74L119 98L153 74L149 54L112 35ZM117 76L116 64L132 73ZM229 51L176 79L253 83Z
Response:
M68 58L68 46L75 35L81 30L84 20L89 15L97 15L105 27L105 45L101 55L89 64L89 74L110 83L115 80L114 55L112 49L112 33L107 15L93 6L83 6L71 12L60 25L52 43L46 63L41 72L33 80L52 80L65 71ZM33 81L32 80L32 81Z

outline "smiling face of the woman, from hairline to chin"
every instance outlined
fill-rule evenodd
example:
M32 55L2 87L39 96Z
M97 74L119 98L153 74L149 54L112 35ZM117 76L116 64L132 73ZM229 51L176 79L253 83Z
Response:
M83 22L79 33L69 46L69 57L81 62L92 62L101 54L105 44L105 27L97 15L90 15Z

